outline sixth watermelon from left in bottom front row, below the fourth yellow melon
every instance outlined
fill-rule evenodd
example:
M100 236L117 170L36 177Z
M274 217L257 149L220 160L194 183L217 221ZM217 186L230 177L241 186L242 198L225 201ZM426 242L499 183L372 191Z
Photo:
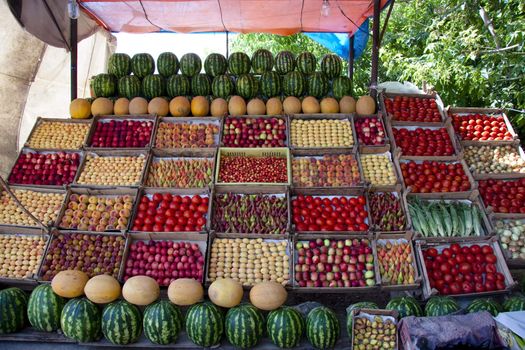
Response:
M224 317L221 309L206 301L192 305L186 313L186 333L199 346L209 347L221 341Z

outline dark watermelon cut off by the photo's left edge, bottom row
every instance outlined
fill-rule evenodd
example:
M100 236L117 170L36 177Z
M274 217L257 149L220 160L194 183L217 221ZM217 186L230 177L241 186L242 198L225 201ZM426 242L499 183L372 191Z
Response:
M0 334L21 330L27 320L27 295L20 288L0 291Z

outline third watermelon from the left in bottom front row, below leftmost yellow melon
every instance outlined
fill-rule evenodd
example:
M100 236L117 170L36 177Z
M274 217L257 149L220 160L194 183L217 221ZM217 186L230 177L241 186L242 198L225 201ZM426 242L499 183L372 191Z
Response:
M60 328L68 338L78 342L97 341L102 336L98 307L86 298L69 300L60 316Z

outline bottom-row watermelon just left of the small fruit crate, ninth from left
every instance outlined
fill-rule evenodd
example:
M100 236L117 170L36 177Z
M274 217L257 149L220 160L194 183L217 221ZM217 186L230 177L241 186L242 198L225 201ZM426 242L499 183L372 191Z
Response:
M315 348L334 348L340 333L339 320L331 309L318 306L308 313L306 317L306 337Z

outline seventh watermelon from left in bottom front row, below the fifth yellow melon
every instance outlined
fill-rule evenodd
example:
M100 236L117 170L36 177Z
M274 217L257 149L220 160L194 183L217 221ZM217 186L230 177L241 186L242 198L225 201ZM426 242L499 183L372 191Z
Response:
M263 336L264 317L255 306L242 304L228 310L224 328L226 337L233 346L252 348Z

